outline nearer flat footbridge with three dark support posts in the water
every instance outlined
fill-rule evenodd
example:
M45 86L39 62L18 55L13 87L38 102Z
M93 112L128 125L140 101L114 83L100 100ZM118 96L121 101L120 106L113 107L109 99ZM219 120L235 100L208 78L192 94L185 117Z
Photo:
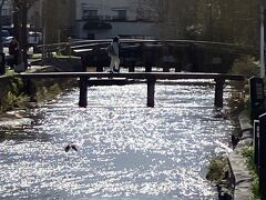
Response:
M40 79L40 78L79 78L80 79L80 107L88 106L88 86L90 79L129 79L129 80L145 80L147 84L147 107L154 107L154 93L156 80L181 80L181 79L211 79L215 81L215 107L223 107L223 90L226 80L243 81L246 76L234 76L223 73L187 73L187 72L38 72L38 73L20 73L23 79Z

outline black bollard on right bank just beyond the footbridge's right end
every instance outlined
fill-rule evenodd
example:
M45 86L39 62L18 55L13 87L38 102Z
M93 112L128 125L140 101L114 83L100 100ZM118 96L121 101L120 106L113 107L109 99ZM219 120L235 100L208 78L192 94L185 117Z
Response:
M264 98L264 80L258 77L249 79L249 94L250 94L250 117L252 120L258 119L265 111Z

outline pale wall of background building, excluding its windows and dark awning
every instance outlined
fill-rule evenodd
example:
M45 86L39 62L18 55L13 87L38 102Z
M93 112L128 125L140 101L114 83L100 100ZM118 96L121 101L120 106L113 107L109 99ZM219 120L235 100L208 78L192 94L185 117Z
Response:
M143 8L143 0L76 0L76 29L79 38L86 38L88 33L94 33L95 39L113 38L114 36L156 37L155 22L142 22L137 20L137 11ZM155 1L155 0L154 0ZM82 9L98 10L99 16L115 16L116 9L126 10L126 21L106 21L111 23L111 30L83 30L85 20L82 20ZM149 8L146 8L149 9Z

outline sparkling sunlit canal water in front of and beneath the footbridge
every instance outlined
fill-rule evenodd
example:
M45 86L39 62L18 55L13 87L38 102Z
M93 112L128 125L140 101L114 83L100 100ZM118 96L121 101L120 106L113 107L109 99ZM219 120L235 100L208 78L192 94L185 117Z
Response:
M214 87L156 84L155 108L146 84L88 90L88 108L72 89L1 130L0 199L217 199L207 164L235 124L215 118Z

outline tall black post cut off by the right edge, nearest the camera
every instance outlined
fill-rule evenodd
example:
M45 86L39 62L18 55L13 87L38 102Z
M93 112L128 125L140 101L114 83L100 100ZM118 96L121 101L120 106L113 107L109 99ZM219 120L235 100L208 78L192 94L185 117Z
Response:
M258 177L259 193L266 198L266 113L259 116Z

